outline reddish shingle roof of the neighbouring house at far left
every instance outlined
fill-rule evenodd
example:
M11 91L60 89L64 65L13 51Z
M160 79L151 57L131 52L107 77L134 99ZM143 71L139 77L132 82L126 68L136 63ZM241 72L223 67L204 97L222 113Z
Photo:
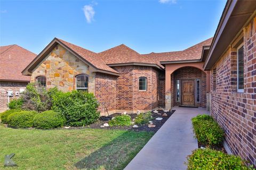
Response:
M36 57L36 54L18 45L0 47L0 80L29 81L21 71Z

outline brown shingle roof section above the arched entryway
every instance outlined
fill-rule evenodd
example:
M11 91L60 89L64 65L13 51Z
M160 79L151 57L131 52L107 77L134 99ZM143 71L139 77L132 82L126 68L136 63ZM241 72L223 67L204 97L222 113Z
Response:
M199 60L201 59L203 46L210 46L212 38L202 41L192 47L178 52L166 52L166 53L149 53L143 54L156 62L162 61L182 61L182 60Z

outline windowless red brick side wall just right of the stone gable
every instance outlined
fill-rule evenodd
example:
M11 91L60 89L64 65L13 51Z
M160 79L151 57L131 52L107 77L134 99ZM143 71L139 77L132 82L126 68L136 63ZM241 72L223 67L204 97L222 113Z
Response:
M117 77L104 73L95 74L95 92L94 95L98 99L100 106L98 111L106 112L116 109L116 80Z

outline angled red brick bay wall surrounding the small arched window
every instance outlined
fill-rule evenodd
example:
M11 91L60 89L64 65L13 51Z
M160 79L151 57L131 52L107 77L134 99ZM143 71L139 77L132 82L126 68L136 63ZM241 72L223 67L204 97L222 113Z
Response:
M150 66L116 66L116 109L137 111L159 106L159 71ZM147 91L139 91L139 78L147 78ZM164 94L162 94L163 96Z

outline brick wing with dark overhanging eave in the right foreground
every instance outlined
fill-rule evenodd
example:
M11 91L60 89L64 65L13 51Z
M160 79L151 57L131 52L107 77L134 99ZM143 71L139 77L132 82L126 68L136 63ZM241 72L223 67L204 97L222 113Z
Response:
M211 71L211 115L235 155L256 166L256 2L228 1L204 69Z

